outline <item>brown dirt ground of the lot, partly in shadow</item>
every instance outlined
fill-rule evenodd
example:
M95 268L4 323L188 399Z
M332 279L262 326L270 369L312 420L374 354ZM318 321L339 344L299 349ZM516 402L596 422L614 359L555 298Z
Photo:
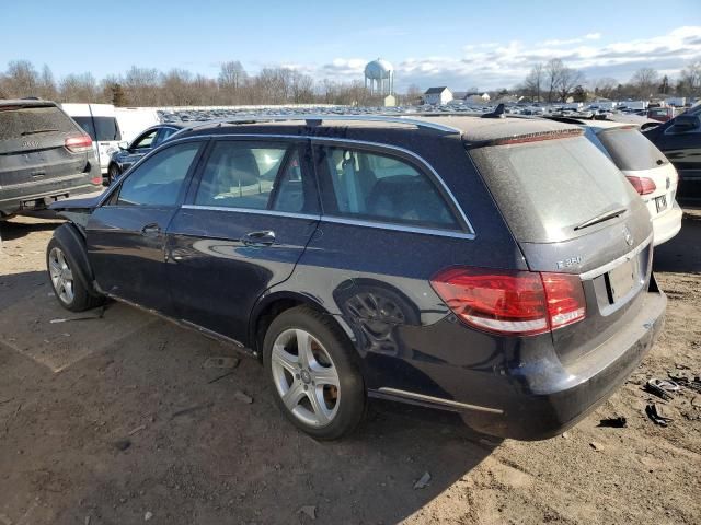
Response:
M669 305L653 351L538 443L381 402L352 439L317 443L278 412L256 362L208 366L231 348L120 304L62 311L44 270L56 225L0 226L0 525L701 523L701 394L666 404L662 428L642 389L701 374L701 212L656 253ZM597 427L610 416L628 428Z

